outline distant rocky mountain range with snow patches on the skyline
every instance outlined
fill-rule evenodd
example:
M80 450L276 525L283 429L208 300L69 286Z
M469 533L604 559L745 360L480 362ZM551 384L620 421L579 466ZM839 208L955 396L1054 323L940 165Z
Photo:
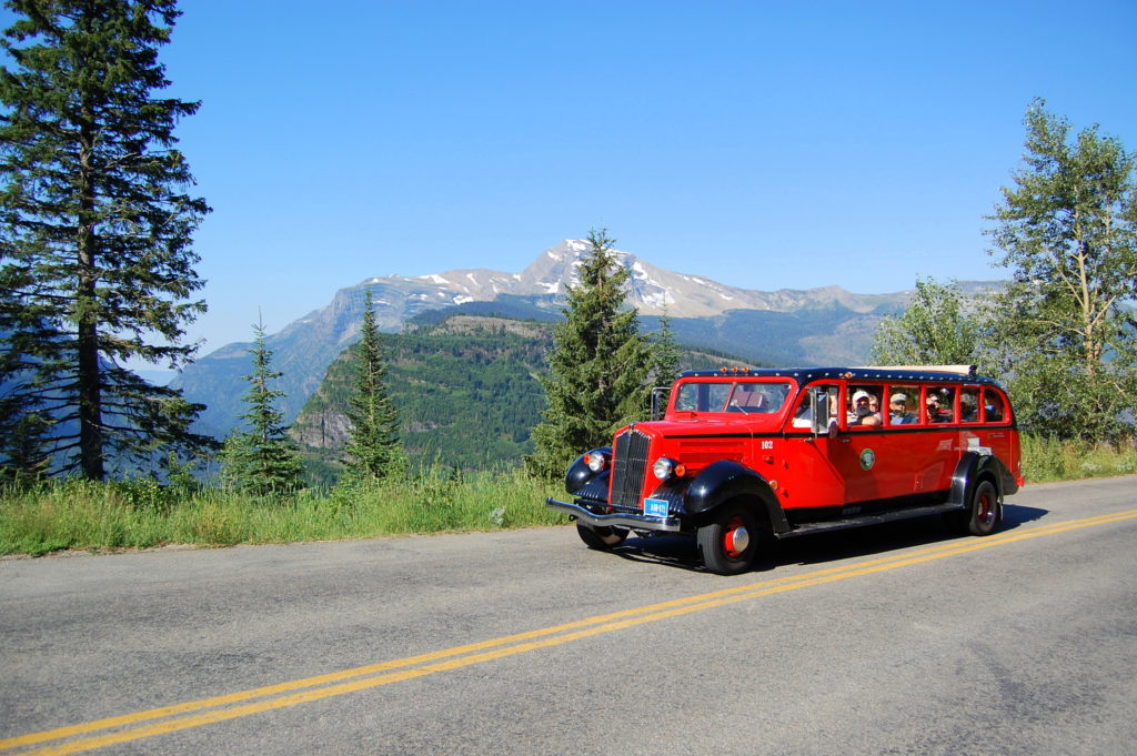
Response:
M584 241L563 241L521 273L472 268L370 279L341 289L326 307L265 339L273 368L284 373L277 388L287 394L281 402L287 421L297 416L329 365L358 338L367 289L376 323L387 332L400 331L412 318L440 322L453 313L554 321L567 288L579 281L576 263L588 249ZM880 318L903 311L911 294L855 294L839 286L754 291L666 271L623 251L617 259L631 274L628 302L639 310L644 331L655 330L666 311L681 343L752 363L863 364ZM965 292L993 285L961 284ZM241 376L251 371L249 347L226 344L172 382L188 399L208 407L199 419L200 432L221 438L238 424L248 389Z

